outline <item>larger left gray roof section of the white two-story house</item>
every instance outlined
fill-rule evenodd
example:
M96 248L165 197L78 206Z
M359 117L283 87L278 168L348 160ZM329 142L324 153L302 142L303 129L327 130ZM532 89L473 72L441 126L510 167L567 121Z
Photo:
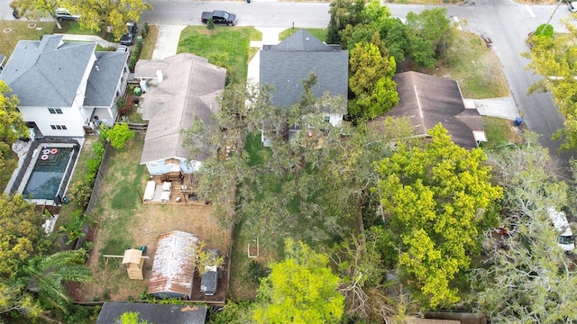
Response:
M61 35L20 40L0 79L21 106L69 107L95 49L96 43L62 42Z

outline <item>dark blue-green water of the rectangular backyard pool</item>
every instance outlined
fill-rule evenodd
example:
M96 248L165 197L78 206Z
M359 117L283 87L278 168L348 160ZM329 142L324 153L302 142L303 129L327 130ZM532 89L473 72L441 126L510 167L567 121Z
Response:
M53 200L58 193L66 168L69 166L72 148L56 148L56 154L48 152L50 149L53 148L41 148L32 174L24 187L24 197ZM48 154L45 154L47 152Z

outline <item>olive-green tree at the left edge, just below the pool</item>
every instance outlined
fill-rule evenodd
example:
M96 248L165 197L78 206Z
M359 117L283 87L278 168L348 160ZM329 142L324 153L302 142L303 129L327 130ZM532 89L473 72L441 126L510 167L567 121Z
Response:
M0 195L0 277L14 277L26 260L48 250L43 222L21 194Z

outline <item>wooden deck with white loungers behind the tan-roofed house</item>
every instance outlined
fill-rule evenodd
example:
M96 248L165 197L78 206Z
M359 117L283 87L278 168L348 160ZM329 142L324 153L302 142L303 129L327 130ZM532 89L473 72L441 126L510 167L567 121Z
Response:
M206 204L204 201L197 199L197 190L199 186L198 176L194 174L170 173L165 175L154 175L151 178L157 185L166 181L172 183L169 202L146 201L143 203L180 203L180 204Z

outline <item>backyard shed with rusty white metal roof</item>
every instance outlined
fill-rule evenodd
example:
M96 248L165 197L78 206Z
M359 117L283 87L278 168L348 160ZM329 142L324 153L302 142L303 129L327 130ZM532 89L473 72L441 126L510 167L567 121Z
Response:
M148 293L159 298L191 299L197 241L193 234L180 230L159 236Z

